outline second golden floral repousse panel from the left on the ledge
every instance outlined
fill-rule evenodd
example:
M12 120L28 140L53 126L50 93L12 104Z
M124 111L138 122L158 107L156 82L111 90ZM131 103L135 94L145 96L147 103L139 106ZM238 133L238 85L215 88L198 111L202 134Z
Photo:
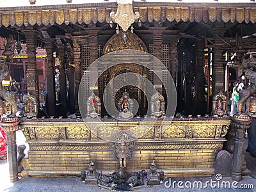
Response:
M90 139L90 130L84 126L66 127L67 138L70 140Z

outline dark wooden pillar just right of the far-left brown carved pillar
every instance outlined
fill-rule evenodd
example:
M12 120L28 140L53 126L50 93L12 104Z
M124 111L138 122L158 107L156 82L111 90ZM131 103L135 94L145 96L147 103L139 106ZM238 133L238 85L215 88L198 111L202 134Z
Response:
M46 111L49 116L55 115L56 93L55 93L55 76L54 76L54 38L45 39L45 47L47 52L47 71L46 71L46 84L47 84L47 97L46 97Z

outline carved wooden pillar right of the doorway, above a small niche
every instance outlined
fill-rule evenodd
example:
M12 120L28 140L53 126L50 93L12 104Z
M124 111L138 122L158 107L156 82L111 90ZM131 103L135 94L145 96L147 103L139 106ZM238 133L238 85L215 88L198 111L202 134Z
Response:
M162 60L162 44L163 44L163 31L165 28L151 28L154 35L154 56ZM154 87L162 94L162 83L159 78L162 79L162 67L154 65Z

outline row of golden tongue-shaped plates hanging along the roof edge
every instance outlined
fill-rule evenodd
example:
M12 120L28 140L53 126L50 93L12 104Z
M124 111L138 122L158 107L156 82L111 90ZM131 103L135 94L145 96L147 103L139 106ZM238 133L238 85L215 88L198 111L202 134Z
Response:
M166 6L164 4L163 7L158 3L156 6L148 6L148 4L143 3L134 3L138 4L138 7L134 6L134 10L138 10L140 12L140 19L142 22L152 22L155 20L156 22L164 20L169 20L172 22L175 20L179 22L180 20L186 22L207 22L210 20L211 22L215 22L216 20L220 22L256 22L256 8L248 7L243 8L244 5L234 4L231 6L230 4L222 4L223 8L219 8L217 4L191 4L190 6L183 6L177 4L170 4ZM96 5L96 7L95 7ZM200 6L202 5L202 6ZM116 4L106 4L108 8L102 8L97 4L85 4L83 7L88 8L78 8L76 4L64 5L64 6L54 6L54 8L50 6L33 6L26 8L4 8L4 10L0 9L0 26L34 26L38 24L44 24L47 26L48 24L54 25L56 24L90 24L93 22L109 22L109 13L116 12ZM202 8L204 7L204 8ZM6 9L9 11L6 12ZM48 10L47 10L48 9ZM43 11L38 11L43 10Z

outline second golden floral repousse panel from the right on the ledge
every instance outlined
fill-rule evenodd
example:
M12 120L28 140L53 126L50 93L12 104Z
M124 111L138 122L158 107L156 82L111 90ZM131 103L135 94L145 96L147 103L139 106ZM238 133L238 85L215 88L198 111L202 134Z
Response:
M185 138L186 136L186 126L179 125L169 125L163 126L163 138Z

